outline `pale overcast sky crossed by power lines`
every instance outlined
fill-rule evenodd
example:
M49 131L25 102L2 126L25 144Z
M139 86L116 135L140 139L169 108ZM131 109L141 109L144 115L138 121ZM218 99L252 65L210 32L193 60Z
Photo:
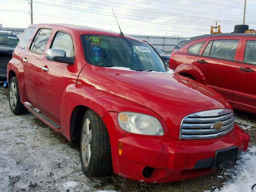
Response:
M0 24L30 25L30 0L0 0ZM66 23L119 32L112 8L125 34L191 37L209 34L212 21L222 32L242 24L244 0L33 0L35 23ZM247 0L246 24L256 29L256 0Z

